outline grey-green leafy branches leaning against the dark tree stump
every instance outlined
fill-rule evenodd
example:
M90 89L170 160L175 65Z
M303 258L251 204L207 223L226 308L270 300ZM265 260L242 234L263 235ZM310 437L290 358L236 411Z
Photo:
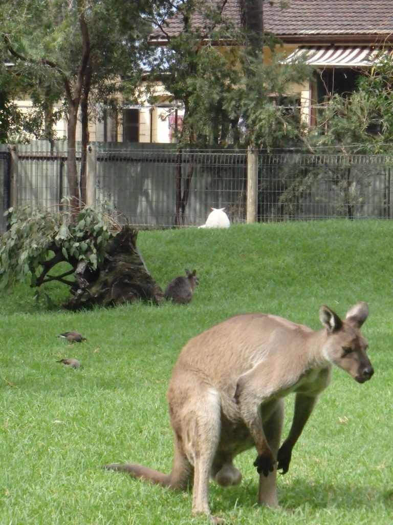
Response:
M30 276L30 286L52 280L67 285L80 261L94 271L105 255L108 239L118 230L110 216L91 207L77 215L70 211L51 213L31 207L6 212L9 229L0 238L0 289L7 289ZM58 275L48 272L67 262L71 269Z

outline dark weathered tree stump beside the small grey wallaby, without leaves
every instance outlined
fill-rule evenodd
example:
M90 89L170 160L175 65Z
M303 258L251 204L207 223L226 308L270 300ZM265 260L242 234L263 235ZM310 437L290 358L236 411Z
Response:
M123 226L108 240L104 260L95 272L85 264L78 265L73 296L63 307L79 310L95 304L108 307L140 300L159 305L164 299L163 292L149 274L136 246L137 235L137 230Z

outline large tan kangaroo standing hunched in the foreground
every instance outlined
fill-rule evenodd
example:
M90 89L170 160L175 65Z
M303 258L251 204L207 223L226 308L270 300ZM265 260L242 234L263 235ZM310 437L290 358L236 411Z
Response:
M140 465L104 468L174 489L185 489L193 477L192 512L209 515L209 478L223 486L240 483L233 458L256 446L258 503L277 506L276 471L288 471L292 448L330 382L332 363L358 383L374 373L359 330L367 316L367 304L359 302L343 321L322 306L324 328L318 331L264 313L216 324L191 339L174 365L167 392L171 473ZM283 397L291 392L296 392L293 422L280 448Z

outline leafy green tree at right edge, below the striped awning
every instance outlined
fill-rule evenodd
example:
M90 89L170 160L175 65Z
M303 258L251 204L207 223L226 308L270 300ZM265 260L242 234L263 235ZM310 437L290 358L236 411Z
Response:
M318 125L302 135L307 150L315 156L310 169L286 188L280 196L282 204L294 202L307 194L313 184L323 177L337 195L337 209L353 218L362 202L359 181L365 172L353 163L356 154L388 154L393 140L393 57L381 50L374 63L359 76L356 89L346 95L335 94L320 104ZM317 153L323 151L341 154L340 163L331 166L321 161ZM326 177L326 174L329 174ZM293 179L291 174L291 179ZM284 177L283 177L284 178ZM390 190L387 188L387 193ZM388 199L387 199L388 201Z

